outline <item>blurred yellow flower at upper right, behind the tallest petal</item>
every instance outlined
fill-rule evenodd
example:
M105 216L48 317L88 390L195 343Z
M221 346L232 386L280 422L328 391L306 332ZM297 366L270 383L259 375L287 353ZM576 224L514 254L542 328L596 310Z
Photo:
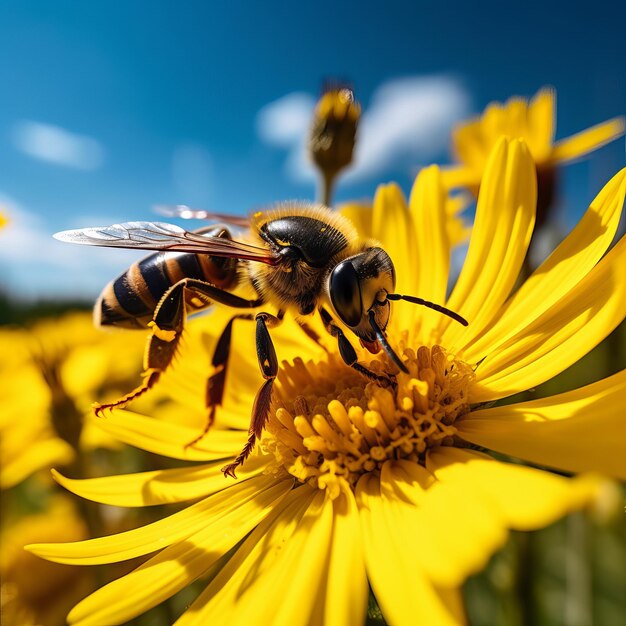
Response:
M476 189L493 146L506 135L522 138L528 145L540 177L541 204L542 177L548 177L557 165L593 152L624 133L624 118L616 117L555 142L555 104L555 91L544 88L530 102L519 97L510 98L505 104L494 102L480 118L457 126L452 145L460 165L443 171L446 187Z

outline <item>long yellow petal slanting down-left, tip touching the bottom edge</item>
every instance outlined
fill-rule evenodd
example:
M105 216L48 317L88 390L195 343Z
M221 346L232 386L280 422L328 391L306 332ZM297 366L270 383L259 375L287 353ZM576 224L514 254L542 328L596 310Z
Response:
M271 480L266 480L271 484ZM274 481L273 487L240 503L226 515L209 513L201 530L163 549L130 574L77 604L68 615L68 622L80 626L120 624L156 606L201 576L253 530L291 485L291 481Z

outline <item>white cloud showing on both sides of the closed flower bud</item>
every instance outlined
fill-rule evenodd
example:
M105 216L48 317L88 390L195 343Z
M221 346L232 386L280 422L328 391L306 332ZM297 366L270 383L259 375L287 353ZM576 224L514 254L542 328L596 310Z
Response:
M257 116L260 138L288 150L287 172L299 181L315 178L306 152L313 106L312 96L293 93ZM344 181L373 178L393 166L414 168L440 157L452 126L469 113L470 97L452 77L413 76L384 83L365 108L355 160Z

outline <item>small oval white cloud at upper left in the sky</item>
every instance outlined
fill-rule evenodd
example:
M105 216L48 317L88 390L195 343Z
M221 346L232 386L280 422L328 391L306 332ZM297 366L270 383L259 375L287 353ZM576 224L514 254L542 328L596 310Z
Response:
M93 137L60 126L23 120L13 127L15 147L35 159L81 170L95 170L104 161L104 149Z

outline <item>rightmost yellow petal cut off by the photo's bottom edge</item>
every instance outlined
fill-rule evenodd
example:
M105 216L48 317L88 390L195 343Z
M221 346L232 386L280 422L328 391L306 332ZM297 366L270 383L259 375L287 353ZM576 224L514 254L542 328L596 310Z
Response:
M381 496L379 478L363 476L357 484L356 500L368 577L385 619L399 626L463 624L456 590L435 588L426 578L423 564L408 558L403 545L407 535L397 532L398 517Z

